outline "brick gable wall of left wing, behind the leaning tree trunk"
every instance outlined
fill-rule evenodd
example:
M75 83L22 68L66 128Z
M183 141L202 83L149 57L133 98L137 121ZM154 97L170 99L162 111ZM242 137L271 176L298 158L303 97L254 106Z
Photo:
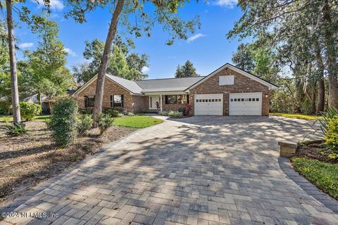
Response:
M79 94L77 94L77 103L79 108L84 107L84 96L94 96L96 90L96 80L89 84L85 89L83 89ZM132 95L130 91L127 91L118 84L115 84L110 79L105 79L104 81L104 101L102 103L102 108L111 108L111 95L120 95L123 94L124 97L124 107L126 110L132 111Z

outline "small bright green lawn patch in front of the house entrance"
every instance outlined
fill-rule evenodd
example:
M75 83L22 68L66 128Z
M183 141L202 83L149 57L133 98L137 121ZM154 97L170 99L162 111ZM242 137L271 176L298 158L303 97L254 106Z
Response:
M144 128L149 127L155 124L159 124L163 120L156 119L149 115L135 115L133 117L118 117L114 120L115 126L120 127L134 127L134 128Z

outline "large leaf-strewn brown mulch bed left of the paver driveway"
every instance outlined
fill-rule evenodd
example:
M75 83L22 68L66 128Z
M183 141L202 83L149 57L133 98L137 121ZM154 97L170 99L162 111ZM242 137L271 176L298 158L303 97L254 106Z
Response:
M4 123L0 122L0 126ZM127 136L136 129L111 127L102 136L92 129L78 137L68 148L58 148L51 141L51 132L44 122L27 122L24 136L6 136L0 131L0 203L25 193L51 176L63 172L87 155L94 155L101 146ZM9 195L10 194L10 195Z

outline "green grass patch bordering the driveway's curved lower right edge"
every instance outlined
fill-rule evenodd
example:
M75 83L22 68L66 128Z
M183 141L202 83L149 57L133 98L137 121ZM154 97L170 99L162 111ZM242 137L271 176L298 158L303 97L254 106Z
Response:
M338 200L338 164L296 157L292 164L308 181Z

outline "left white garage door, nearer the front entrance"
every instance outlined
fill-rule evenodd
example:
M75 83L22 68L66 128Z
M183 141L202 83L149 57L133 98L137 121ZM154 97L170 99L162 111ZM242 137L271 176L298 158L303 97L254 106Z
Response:
M195 115L223 115L223 94L195 94Z

